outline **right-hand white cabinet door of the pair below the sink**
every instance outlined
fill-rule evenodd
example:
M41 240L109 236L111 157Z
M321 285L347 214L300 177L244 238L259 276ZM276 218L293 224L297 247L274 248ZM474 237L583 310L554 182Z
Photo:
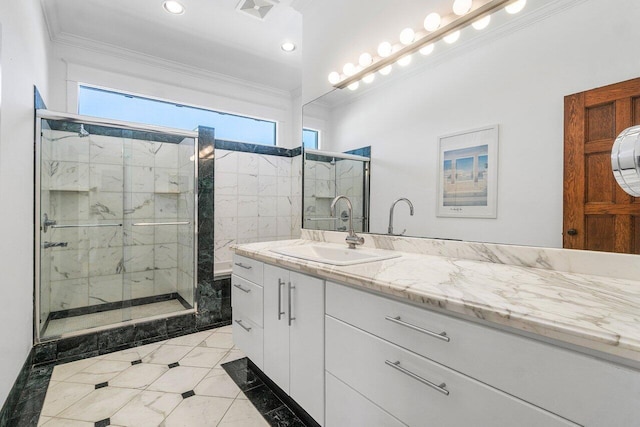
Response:
M324 424L324 281L291 272L290 396Z

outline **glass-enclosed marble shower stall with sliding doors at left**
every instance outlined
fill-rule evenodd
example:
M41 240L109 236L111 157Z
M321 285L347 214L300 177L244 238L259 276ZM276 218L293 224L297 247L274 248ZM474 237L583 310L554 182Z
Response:
M197 132L36 117L36 341L194 312Z

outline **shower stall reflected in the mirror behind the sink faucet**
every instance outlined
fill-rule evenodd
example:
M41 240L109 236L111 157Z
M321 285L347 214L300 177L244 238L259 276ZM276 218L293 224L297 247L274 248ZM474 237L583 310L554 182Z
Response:
M303 153L303 226L310 230L346 231L349 214L339 203L331 217L331 202L345 195L353 205L353 228L369 231L371 159L348 153L306 149Z

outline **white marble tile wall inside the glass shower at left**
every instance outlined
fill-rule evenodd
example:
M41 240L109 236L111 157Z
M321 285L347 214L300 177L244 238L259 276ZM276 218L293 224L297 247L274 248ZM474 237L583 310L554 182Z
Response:
M50 276L50 289L41 295L48 296L50 311L177 292L179 274L193 274L190 226L133 226L193 221L189 141L43 130L42 212L59 225L124 225L57 228L43 235L43 241L66 243L43 249L41 270L43 278ZM183 250L189 244L191 250Z

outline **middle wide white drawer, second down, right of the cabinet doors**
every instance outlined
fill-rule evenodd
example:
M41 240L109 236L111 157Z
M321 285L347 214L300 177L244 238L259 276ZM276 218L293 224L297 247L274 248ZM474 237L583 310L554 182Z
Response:
M327 372L407 425L576 425L332 317L325 327Z

